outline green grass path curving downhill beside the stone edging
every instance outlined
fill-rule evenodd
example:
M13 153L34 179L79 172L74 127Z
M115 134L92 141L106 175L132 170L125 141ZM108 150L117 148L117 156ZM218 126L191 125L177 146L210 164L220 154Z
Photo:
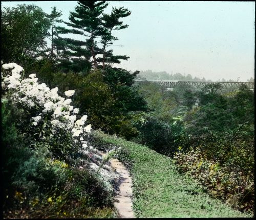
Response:
M252 217L210 198L195 180L178 173L171 158L99 131L93 136L98 148L122 147L118 159L130 169L136 217Z

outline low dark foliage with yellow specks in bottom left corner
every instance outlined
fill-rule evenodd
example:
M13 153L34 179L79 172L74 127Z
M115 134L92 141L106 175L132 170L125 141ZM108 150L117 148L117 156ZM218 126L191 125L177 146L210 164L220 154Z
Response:
M59 160L32 155L20 164L4 205L12 218L113 217L113 195L101 180ZM10 187L10 186L9 186Z

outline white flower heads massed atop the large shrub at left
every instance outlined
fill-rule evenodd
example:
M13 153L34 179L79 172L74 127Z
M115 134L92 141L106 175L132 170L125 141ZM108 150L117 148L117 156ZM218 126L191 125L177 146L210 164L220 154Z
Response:
M84 127L87 115L77 119L78 108L71 105L71 99L65 99L58 95L58 87L50 89L45 83L38 83L35 74L23 79L23 67L16 63L2 65L2 88L12 89L12 101L14 104L21 104L29 108L39 107L41 112L31 118L32 125L37 126L40 121L44 121L47 115L52 125L52 132L58 128L71 130L74 138L83 136L84 133L91 131L91 125ZM74 95L75 90L65 92L67 97Z

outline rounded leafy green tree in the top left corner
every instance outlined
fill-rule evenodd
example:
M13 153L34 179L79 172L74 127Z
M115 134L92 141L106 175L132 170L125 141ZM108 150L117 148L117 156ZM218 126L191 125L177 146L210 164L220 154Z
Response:
M1 27L4 63L16 62L28 68L31 60L46 49L49 28L47 14L35 5L4 7Z

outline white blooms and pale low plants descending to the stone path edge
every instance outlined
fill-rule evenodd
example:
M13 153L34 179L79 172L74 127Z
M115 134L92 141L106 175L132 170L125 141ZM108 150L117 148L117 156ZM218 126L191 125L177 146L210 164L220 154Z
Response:
M23 67L16 63L8 63L2 65L2 89L3 91L11 90L8 99L11 99L14 105L26 106L28 109L39 109L38 114L31 117L31 125L38 126L39 123L45 123L46 118L52 126L52 135L58 129L66 129L72 132L74 141L81 146L80 152L91 158L90 168L95 170L100 163L102 157L96 154L93 148L86 140L85 134L91 132L91 125L84 126L87 115L83 115L77 119L78 108L74 108L71 96L74 90L65 92L67 99L58 95L58 88L50 89L45 83L38 83L35 74L29 75L29 78L23 79ZM5 95L5 94L4 94ZM6 96L2 97L2 102L6 100ZM44 136L42 136L44 138ZM115 172L107 165L100 170L102 180L111 187L111 179L116 179Z

